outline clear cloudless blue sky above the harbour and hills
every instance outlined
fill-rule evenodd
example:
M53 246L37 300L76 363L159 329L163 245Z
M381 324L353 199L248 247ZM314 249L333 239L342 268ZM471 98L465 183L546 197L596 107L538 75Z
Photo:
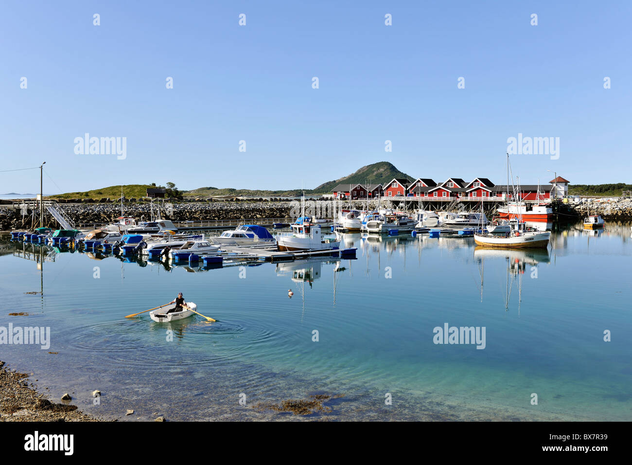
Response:
M523 183L548 182L547 170L632 183L631 2L0 8L0 169L45 160L45 193L313 188L383 160L415 177L504 183L518 133L560 140L559 159L512 157ZM84 133L126 137L126 158L75 154ZM37 171L0 173L0 194L38 190Z

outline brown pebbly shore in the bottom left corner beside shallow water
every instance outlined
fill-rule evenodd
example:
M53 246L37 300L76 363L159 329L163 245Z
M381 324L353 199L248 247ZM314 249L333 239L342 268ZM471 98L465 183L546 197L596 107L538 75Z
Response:
M0 361L0 421L100 421L67 401L56 404L46 399L27 381L28 376Z

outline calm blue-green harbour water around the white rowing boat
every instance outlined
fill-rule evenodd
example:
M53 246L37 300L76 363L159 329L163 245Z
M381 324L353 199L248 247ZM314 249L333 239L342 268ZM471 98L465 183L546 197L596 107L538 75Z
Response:
M207 271L59 252L40 273L5 235L0 326L50 326L52 342L0 359L106 418L305 419L257 405L325 393L342 397L307 418L629 421L630 228L579 228L556 225L544 252L351 234L356 260ZM123 318L179 291L217 323ZM484 326L485 349L434 344L445 323Z

